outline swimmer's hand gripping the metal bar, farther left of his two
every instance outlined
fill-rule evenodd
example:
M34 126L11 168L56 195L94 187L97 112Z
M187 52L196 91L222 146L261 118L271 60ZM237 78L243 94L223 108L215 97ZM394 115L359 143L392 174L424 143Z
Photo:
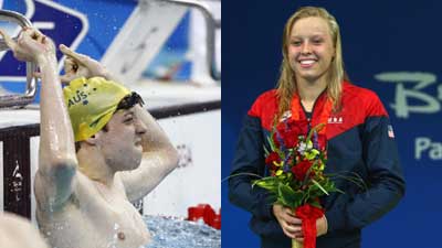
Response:
M0 30L4 43L12 50L13 56L19 61L35 62L39 65L46 58L55 57L54 43L39 30L23 28L18 41L13 41L6 32Z

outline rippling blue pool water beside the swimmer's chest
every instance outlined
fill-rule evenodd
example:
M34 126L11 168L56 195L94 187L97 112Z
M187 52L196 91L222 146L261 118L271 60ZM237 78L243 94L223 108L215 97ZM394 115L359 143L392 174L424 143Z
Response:
M152 241L140 248L220 248L221 230L203 223L162 216L144 216Z

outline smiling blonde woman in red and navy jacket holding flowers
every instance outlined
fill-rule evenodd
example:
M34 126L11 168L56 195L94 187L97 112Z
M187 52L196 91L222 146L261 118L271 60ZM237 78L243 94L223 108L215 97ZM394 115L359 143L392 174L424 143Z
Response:
M316 220L316 244L318 248L358 248L361 229L392 209L404 194L396 141L388 134L388 114L373 91L349 83L339 26L325 9L297 10L286 22L282 52L276 89L259 96L244 120L229 179L230 201L252 214L250 226L260 236L261 247L290 247L292 239L302 242L299 216L275 203L266 190L252 185L270 175L272 164L266 164L265 151L272 151L270 140L277 125L307 123L308 129L320 125L327 140L325 173L356 174L368 186L335 180L346 194L320 197L325 214Z

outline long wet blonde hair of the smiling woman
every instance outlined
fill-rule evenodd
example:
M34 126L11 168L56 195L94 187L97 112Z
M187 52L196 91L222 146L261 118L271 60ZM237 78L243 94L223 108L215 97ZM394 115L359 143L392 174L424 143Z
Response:
M327 21L330 30L332 40L335 46L335 56L328 69L327 96L333 103L333 109L337 111L340 108L340 95L343 91L343 80L348 80L347 73L344 69L343 50L340 45L339 25L336 19L324 8L303 7L298 9L285 23L283 33L283 62L281 64L281 75L276 86L276 93L280 100L277 119L291 108L293 94L296 91L296 78L288 58L288 42L291 31L296 21L303 18L317 17Z

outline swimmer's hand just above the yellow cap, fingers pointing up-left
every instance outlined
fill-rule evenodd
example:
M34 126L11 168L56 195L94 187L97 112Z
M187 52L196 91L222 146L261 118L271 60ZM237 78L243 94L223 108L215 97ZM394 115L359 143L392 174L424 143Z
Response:
M69 83L78 77L90 78L101 76L108 78L108 72L99 62L84 54L75 53L63 44L59 47L66 55L66 60L64 61L65 74L60 76L61 82Z

